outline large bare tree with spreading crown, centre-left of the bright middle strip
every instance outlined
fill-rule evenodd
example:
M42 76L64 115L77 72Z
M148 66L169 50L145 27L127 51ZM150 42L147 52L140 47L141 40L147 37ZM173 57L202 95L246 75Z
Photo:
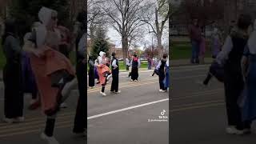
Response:
M127 58L129 43L137 35L136 30L145 24L142 20L150 3L147 0L106 0L99 5L110 19L109 25L122 37L123 58Z

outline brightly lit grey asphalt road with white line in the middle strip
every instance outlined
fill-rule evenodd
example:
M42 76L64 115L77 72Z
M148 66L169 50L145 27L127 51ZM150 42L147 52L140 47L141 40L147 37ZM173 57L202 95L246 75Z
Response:
M100 86L87 91L89 144L169 144L169 94L158 92L152 73L139 72L138 82L121 73L121 94L110 94L110 83L106 97Z

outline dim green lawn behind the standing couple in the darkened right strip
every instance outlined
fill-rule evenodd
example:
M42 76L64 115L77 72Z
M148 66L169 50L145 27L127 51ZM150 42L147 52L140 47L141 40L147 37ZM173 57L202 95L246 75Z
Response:
M170 59L190 59L191 58L191 44L190 42L173 42L170 46ZM206 58L210 58L210 48L206 46Z

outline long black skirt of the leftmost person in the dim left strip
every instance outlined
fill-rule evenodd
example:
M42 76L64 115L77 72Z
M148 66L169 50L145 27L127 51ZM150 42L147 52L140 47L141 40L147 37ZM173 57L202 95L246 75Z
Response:
M4 66L3 82L5 86L5 117L22 117L24 102L22 93L22 67L20 63L8 63Z

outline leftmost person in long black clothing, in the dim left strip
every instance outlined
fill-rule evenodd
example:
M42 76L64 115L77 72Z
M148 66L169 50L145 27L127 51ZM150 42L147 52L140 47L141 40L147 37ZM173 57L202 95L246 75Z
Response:
M5 32L2 36L2 48L6 57L3 69L5 86L5 122L22 122L23 93L22 93L22 48L18 41L17 26L14 20L6 20Z

